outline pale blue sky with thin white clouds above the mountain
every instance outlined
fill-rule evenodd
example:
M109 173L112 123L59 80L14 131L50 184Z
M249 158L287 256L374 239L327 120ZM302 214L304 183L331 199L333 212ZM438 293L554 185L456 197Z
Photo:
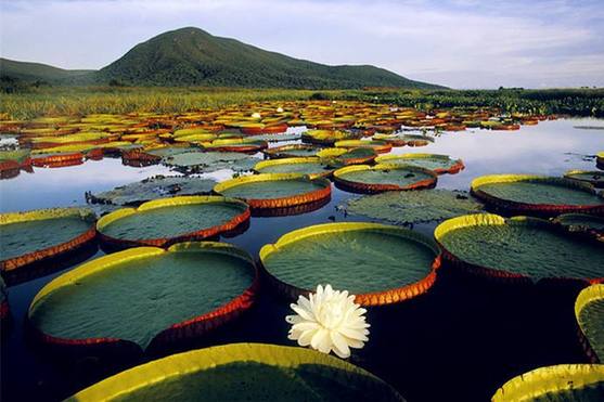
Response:
M185 26L451 88L604 87L604 0L0 0L0 55L95 69Z

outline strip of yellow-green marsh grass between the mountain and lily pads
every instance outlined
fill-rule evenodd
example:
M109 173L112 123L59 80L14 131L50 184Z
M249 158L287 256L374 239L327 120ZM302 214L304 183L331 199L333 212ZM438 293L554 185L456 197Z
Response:
M604 89L567 90L293 90L244 88L35 87L3 93L7 118L108 113L185 113L266 101L350 100L434 111L497 107L505 113L604 117ZM7 91L4 91L7 92Z

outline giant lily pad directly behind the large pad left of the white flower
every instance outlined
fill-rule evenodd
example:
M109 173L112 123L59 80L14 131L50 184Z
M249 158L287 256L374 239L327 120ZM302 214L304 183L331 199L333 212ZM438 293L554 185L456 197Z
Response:
M216 236L248 219L249 208L237 199L181 196L147 202L136 209L118 209L99 219L97 231L111 244L164 246Z

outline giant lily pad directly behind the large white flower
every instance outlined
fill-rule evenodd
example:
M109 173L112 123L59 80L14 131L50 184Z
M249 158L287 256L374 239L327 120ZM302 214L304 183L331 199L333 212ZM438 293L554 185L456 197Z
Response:
M365 306L426 291L436 280L438 247L419 233L377 223L327 223L290 232L260 250L270 282L295 297L331 284Z

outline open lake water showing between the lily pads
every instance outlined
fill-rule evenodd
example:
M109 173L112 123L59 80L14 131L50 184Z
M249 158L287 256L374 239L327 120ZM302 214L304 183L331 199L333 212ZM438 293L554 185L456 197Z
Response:
M595 170L593 156L604 151L604 130L574 128L590 125L603 122L560 119L519 131L471 129L444 133L427 146L396 147L393 152L462 158L466 168L458 174L440 176L437 187L468 190L473 178L489 173L561 176L569 169ZM34 173L21 172L0 181L0 210L82 205L87 191L97 193L166 173L175 174L163 166L133 168L110 158L59 169L34 168ZM222 179L229 176L214 174ZM222 241L257 257L262 245L292 230L333 220L364 220L345 217L335 208L357 196L333 187L331 202L316 211L252 218L245 233ZM435 225L415 225L414 230L432 236ZM102 254L89 250L81 259ZM24 341L23 319L34 296L65 270L9 288L13 319L2 339L3 401L60 400L110 374L93 362L77 367L57 364ZM587 361L573 312L578 289L558 290L538 286L518 289L441 270L427 295L371 309L370 341L351 361L391 384L409 401L488 400L515 375L543 365ZM287 302L264 295L245 316L198 346L233 341L293 346L286 338L287 313Z

